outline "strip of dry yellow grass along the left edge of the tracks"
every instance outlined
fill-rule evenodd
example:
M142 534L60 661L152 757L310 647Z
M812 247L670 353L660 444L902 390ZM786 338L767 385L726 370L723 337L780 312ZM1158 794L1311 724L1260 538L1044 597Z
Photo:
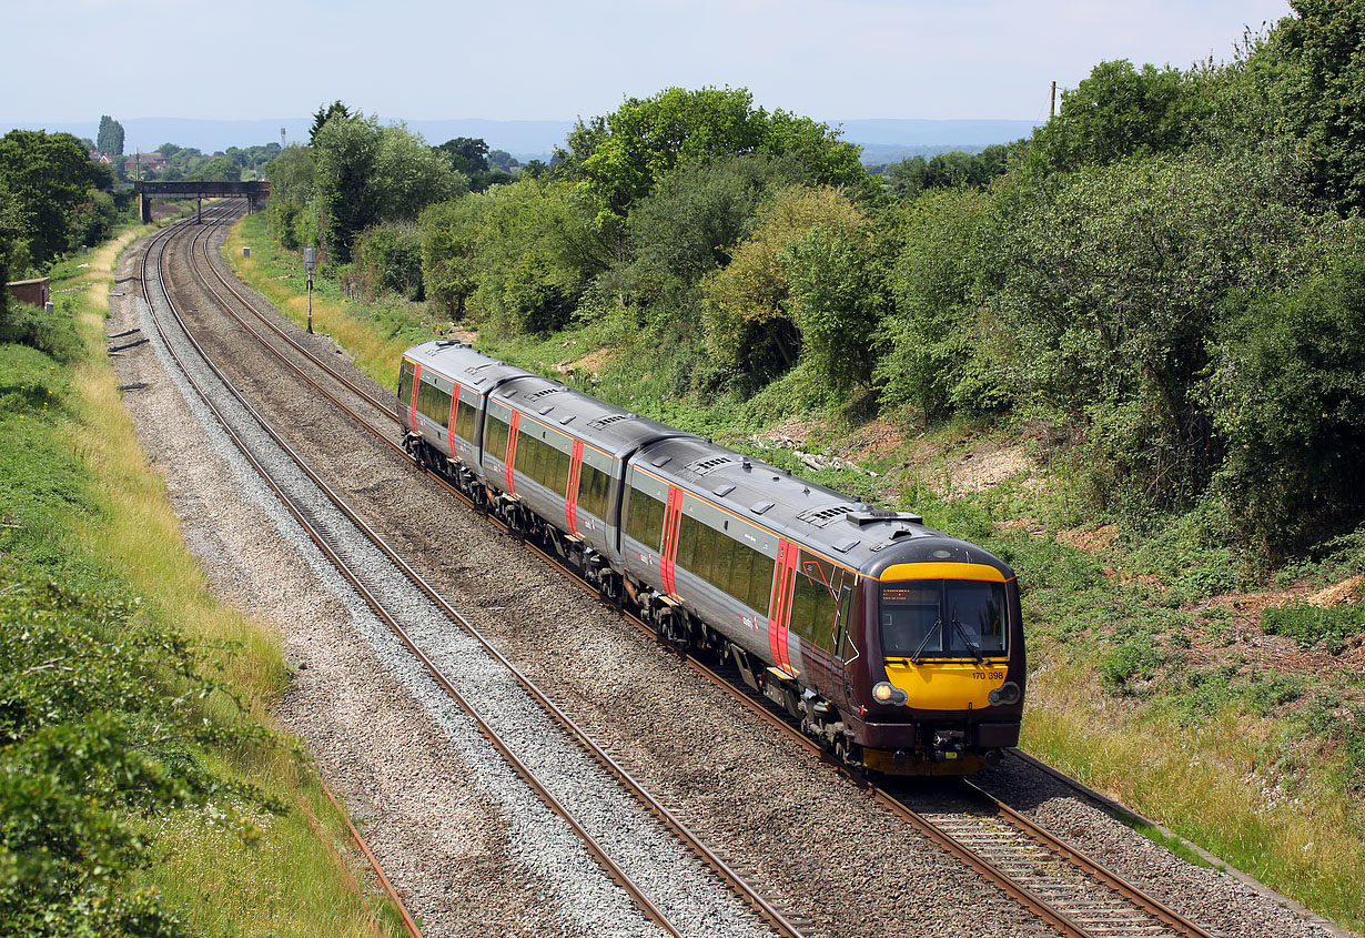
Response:
M116 258L146 231L131 231L93 253L89 270L71 284L89 287L81 295L78 315L87 350L74 373L79 416L68 440L105 507L100 523L86 524L74 537L191 639L229 646L214 664L251 714L272 725L270 706L288 680L278 639L266 623L220 605L210 594L203 571L180 541L165 485L142 452L104 354ZM217 709L220 715L231 714L227 702ZM242 841L202 811L162 819L149 833L164 859L141 874L142 885L158 889L169 908L209 935L373 937L375 916L397 934L377 900L354 892L354 874L339 856L339 845L347 851L343 822L291 752L228 752L221 769L308 810L248 818L263 829L255 844ZM231 812L231 806L216 807ZM322 830L315 832L306 814L321 818Z

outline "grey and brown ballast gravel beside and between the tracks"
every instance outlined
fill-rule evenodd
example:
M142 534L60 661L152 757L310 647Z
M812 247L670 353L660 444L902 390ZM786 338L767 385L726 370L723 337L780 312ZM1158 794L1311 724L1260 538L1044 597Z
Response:
M187 280L175 277L177 284ZM265 309L263 300L253 302ZM708 845L745 867L774 904L812 922L809 934L961 935L979 934L983 923L1001 935L1051 934L857 785L625 627L330 404L317 403L306 385L278 374L273 359L243 341L239 326L210 314L207 300L191 306L203 311L202 329L217 336L214 354L254 375L258 406L291 445L310 461L324 460L318 464L328 482L408 563L468 610L504 654ZM132 307L123 302L117 314L127 321ZM111 332L117 330L111 324ZM205 438L203 425L212 421L192 401L186 404L158 355L160 347L156 355L142 347L117 367L126 382L153 384L128 396L130 411L167 475L187 539L221 595L277 628L299 668L281 718L317 754L352 814L366 821L367 838L408 892L425 931L620 934L613 928L622 922L631 934L647 928L562 822L539 807L468 718L434 692L354 591L302 541L273 496L222 451L214 441L220 434ZM319 509L319 517L326 511ZM340 538L348 550L360 552L354 539ZM386 578L384 564L375 564L374 576ZM480 711L516 735L528 761L566 801L584 806L594 826L605 836L616 833L613 855L617 845L639 853L676 851L618 795L605 800L595 765L562 745L562 735L546 725L539 707L425 598L385 582L385 594L403 608L425 647L435 650L442 669L461 687L476 688L471 696ZM1010 765L991 780L1022 792L1037 781L1029 773L1037 774ZM1085 832L1082 849L1144 887L1155 883L1153 894L1223 934L1323 934L1272 898L1173 857L1074 795L1048 796L1033 815L1067 840L1076 841L1073 830ZM642 872L642 881L666 896L700 894L702 886L684 872L684 859L669 863L651 867L655 874ZM669 879L676 889L662 882ZM726 896L693 904L688 928L741 934L751 927L732 913ZM713 912L715 920L704 918Z

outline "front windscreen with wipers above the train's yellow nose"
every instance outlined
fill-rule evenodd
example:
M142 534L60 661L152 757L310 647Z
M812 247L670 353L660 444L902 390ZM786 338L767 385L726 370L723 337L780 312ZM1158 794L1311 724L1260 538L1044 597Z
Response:
M882 584L887 658L981 658L1005 653L1005 584L897 580Z

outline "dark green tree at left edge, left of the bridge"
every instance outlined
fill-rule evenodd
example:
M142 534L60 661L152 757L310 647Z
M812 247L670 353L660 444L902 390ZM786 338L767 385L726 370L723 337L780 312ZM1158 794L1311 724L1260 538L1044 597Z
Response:
M0 138L0 180L23 225L29 261L41 266L76 247L72 216L97 184L112 186L71 134L14 130Z

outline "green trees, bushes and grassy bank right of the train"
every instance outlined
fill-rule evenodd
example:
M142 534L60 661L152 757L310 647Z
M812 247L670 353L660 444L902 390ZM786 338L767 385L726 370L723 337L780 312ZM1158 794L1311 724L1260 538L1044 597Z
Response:
M1028 747L1361 927L1365 7L1291 8L1227 61L1100 63L1026 141L872 176L743 89L667 89L405 213L377 208L400 173L351 177L349 254L317 167L385 131L319 112L239 227L246 273L298 295L318 244L339 336L476 335L983 543L1026 590ZM434 149L482 172L465 143Z

